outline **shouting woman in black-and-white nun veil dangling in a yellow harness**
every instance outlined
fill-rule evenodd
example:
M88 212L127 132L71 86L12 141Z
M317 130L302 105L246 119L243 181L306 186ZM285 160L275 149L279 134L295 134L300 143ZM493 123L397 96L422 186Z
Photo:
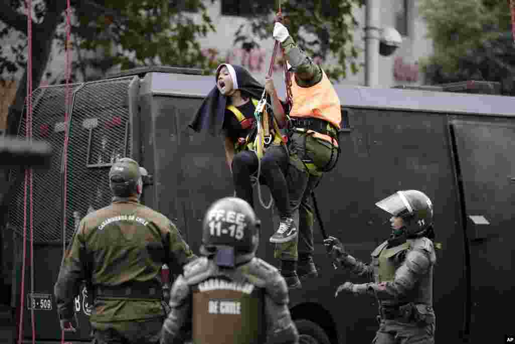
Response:
M261 128L258 128L254 111L264 89L273 111L270 111L270 107L265 107L261 116ZM279 211L278 232L282 233L281 242L290 241L298 235L291 218L288 189L284 177L289 160L286 145L279 130L285 126L284 108L270 79L267 78L263 87L246 69L228 63L218 66L216 85L205 97L190 124L197 133L209 132L213 136L222 134L236 196L247 201L252 207L253 193L250 177L260 167L260 178L263 178L270 189ZM258 135L258 129L261 129L261 137ZM260 138L263 140L261 148L259 147Z

